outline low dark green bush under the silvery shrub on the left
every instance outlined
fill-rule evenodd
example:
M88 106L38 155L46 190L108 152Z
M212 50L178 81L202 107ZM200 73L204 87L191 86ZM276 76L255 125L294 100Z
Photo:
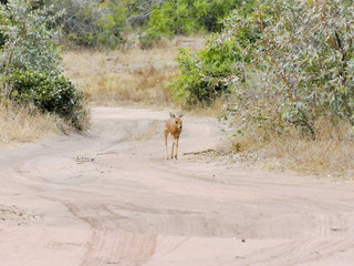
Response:
M50 72L18 71L10 76L11 99L33 103L42 112L56 113L76 129L82 129L83 93L65 76Z

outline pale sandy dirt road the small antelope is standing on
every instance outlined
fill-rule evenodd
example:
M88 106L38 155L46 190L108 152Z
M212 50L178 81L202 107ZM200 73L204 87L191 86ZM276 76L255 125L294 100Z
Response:
M183 155L220 141L166 112L97 108L86 135L0 150L0 265L354 265L354 186ZM198 132L198 134L195 134Z

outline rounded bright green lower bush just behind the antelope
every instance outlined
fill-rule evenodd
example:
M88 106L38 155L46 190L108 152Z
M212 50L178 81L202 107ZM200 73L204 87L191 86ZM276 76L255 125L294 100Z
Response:
M170 85L177 99L187 98L189 104L201 102L209 105L218 96L230 92L228 75L239 60L239 51L232 43L223 44L209 47L197 54L180 49L177 61L181 74ZM233 57L229 57L230 53Z

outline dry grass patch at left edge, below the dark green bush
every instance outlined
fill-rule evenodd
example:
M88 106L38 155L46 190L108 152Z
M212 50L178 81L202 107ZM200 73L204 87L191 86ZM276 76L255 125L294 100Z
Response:
M53 115L28 108L0 104L0 146L33 142L60 133Z

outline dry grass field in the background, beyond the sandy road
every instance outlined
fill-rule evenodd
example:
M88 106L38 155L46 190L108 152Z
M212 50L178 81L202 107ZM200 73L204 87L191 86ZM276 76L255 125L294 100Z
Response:
M63 54L65 74L75 81L95 105L143 103L170 105L165 86L177 74L180 47L199 49L201 38L178 37L152 50L95 52L67 51Z

